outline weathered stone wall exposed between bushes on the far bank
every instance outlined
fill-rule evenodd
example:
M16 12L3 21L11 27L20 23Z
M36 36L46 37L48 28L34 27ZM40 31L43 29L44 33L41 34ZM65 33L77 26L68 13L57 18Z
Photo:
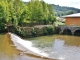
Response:
M43 30L45 27L54 27L53 25L36 25L33 27L20 27L21 29L23 29L25 31L26 34L28 35L32 35L32 34L36 34L36 36L40 36L43 34Z

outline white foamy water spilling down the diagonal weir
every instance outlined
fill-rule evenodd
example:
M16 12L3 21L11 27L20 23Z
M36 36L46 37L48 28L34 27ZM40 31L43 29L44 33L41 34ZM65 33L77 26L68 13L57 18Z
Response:
M33 44L31 41L23 40L19 36L15 35L13 33L9 33L9 34L11 36L11 40L13 41L13 43L17 47L17 49L20 49L22 51L28 51L28 53L38 55L41 57L49 57L48 54L33 47Z

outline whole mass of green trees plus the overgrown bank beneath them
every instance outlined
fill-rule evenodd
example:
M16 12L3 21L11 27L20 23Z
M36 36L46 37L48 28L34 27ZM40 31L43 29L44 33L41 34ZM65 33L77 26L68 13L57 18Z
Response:
M10 31L24 37L53 34L54 27L45 25L53 25L55 21L53 6L44 1L31 0L25 4L21 0L0 2L0 33ZM40 26L36 28L37 25ZM41 28L41 25L44 26Z

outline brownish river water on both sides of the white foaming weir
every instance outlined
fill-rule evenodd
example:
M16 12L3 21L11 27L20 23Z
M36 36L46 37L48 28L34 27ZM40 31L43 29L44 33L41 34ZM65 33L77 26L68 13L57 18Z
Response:
M51 58L80 60L80 36L50 35L26 40L30 40L34 47L47 53ZM9 34L0 34L0 60L52 60L20 53L23 51L16 48Z

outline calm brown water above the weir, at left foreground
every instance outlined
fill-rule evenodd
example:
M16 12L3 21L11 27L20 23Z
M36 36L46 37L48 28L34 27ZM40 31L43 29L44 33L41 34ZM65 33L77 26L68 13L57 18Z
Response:
M14 39L15 40L15 39ZM9 34L0 35L0 60L46 60L17 49Z

